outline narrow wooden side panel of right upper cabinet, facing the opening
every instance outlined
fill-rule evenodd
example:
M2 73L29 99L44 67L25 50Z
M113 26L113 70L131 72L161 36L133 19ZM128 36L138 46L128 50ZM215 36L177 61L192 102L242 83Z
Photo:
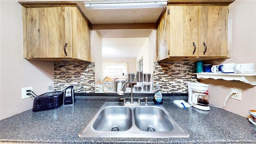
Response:
M167 6L168 7L168 6ZM157 44L158 44L158 60L164 60L169 57L168 54L168 43L169 43L169 18L168 10L164 10L158 20L157 28ZM166 15L167 14L167 15Z

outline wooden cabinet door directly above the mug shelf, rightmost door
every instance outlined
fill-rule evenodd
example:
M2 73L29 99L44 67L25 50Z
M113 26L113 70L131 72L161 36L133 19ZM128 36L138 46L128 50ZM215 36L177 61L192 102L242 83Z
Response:
M228 55L228 6L200 6L199 29L199 56Z

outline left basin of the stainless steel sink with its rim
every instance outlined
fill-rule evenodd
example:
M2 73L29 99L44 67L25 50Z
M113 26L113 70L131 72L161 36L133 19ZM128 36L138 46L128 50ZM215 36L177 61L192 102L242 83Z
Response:
M131 133L132 109L121 102L106 102L79 133L79 137L124 137Z

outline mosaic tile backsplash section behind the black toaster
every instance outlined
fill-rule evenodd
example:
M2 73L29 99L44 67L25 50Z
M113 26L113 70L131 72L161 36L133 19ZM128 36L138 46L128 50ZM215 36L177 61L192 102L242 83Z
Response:
M54 63L54 91L64 91L73 85L75 92L95 90L95 64L82 62Z

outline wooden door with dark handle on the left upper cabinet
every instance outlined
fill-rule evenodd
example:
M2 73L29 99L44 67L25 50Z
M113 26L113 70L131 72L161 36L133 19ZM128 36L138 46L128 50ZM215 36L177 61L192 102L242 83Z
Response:
M70 7L26 8L28 58L71 57L71 30Z

